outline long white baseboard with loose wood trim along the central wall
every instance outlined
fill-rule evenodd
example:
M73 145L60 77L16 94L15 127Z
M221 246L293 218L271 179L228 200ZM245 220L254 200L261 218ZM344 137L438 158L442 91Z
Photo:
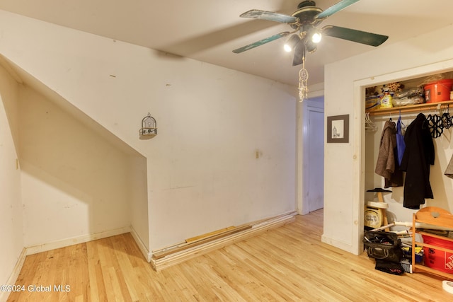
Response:
M231 245L251 236L256 236L259 233L263 233L272 228L284 226L285 224L291 223L295 220L294 215L296 215L295 211L289 214L284 214L282 216L259 221L258 223L251 223L251 228L247 228L243 231L240 231L239 233L234 233L229 236L218 238L202 245L196 245L193 248L179 250L178 252L171 253L159 259L151 257L151 265L156 272L159 272L162 269L166 269L167 267L185 262L212 250L224 248L226 245Z

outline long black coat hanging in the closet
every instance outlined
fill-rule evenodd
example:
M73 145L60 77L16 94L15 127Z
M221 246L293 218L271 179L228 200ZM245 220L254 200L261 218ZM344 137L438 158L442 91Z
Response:
M420 204L425 203L425 198L434 198L430 184L430 165L434 165L434 144L423 113L419 113L407 127L404 142L406 149L401 161L401 170L406 171L403 207L420 209Z

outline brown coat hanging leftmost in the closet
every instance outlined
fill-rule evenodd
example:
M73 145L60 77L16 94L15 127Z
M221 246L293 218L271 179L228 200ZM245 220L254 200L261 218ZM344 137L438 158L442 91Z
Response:
M384 124L374 172L384 177L384 187L401 187L403 185L403 172L399 170L396 151L395 122L386 121Z

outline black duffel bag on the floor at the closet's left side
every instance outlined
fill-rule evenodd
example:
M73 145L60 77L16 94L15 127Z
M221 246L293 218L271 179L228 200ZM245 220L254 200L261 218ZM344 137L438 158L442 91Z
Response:
M370 258L391 262L400 262L403 258L401 240L395 233L366 231L363 243Z

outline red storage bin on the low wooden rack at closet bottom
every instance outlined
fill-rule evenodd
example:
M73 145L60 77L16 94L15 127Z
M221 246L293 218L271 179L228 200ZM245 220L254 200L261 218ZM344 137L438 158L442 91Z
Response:
M444 239L434 238L428 235L423 235L423 243L437 245L442 248L453 250L453 242ZM425 265L432 269L437 269L449 274L453 273L453 253L436 250L435 248L423 247L423 255Z

